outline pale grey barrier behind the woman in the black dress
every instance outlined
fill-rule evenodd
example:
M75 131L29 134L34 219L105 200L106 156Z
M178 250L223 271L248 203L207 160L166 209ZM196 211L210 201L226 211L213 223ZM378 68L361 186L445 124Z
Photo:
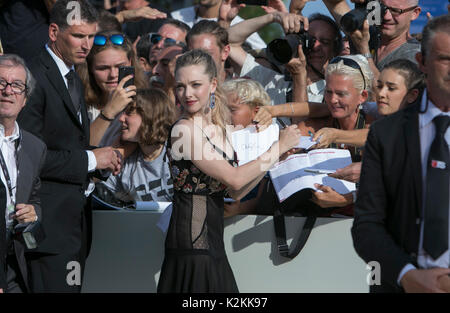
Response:
M83 292L156 292L165 235L161 212L94 211L93 243ZM303 217L287 217L288 242ZM270 216L225 219L225 249L240 292L368 292L366 264L356 255L353 219L318 218L302 252L279 256Z

